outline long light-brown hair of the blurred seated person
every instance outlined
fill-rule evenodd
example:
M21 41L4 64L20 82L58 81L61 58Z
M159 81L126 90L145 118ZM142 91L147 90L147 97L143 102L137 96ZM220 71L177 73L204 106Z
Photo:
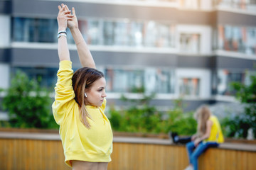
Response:
M210 118L210 110L208 106L204 105L198 108L196 110L195 117L198 122L197 135L201 137L206 133L206 123L207 120Z

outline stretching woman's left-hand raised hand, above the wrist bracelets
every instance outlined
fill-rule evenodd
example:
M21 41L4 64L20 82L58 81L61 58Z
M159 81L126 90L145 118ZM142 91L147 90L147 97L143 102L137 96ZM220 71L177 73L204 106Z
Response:
M70 20L70 18L73 17L73 15L71 15L71 11L67 11L65 10L66 6L64 4L61 4L61 6L58 6L59 9L59 13L57 16L57 21L58 21L58 30L66 30L66 28L68 27L68 21Z

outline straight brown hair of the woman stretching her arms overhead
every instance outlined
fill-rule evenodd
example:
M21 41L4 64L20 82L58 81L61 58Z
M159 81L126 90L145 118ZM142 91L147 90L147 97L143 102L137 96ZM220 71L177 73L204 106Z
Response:
M72 77L72 86L75 91L75 101L78 103L80 108L80 120L82 124L85 125L86 128L90 129L90 123L87 118L91 118L90 114L87 112L85 108L85 90L90 90L92 84L104 77L104 74L97 69L93 69L90 67L83 67L75 71Z

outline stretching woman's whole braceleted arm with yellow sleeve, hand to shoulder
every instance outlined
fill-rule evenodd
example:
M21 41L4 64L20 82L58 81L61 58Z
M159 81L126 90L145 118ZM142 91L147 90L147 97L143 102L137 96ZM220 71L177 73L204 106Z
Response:
M56 123L63 123L66 113L66 104L75 98L75 92L72 86L73 69L70 62L70 53L68 51L68 42L65 29L68 26L68 18L72 17L70 11L58 6L58 31L64 32L58 35L58 56L60 58L59 70L57 73L58 81L55 86L55 101L53 102L53 115Z

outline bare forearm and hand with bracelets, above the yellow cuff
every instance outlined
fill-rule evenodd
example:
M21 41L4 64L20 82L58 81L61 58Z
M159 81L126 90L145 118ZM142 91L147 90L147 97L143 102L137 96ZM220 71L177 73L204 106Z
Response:
M57 17L58 21L58 33L65 31L68 27L68 19L71 17L70 11L65 11L65 6L58 6L59 13ZM60 61L69 60L70 61L70 52L68 50L68 42L65 33L61 34L58 38L58 57Z

